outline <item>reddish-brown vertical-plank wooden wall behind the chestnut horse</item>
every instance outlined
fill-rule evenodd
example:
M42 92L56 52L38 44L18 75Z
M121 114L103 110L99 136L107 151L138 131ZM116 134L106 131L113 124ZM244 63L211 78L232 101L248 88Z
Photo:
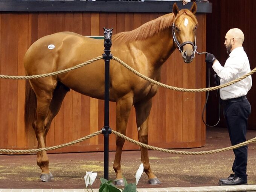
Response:
M158 13L0 13L0 74L24 75L23 56L37 39L55 32L73 31L82 35L103 35L103 27L114 27L114 34L139 27L162 14ZM198 14L198 50L206 49L206 14ZM102 45L102 53L103 53ZM122 59L122 58L121 58ZM204 58L196 56L185 64L175 53L164 64L161 82L183 88L205 86ZM0 79L0 148L36 148L33 131L25 136L23 121L24 80ZM191 148L205 144L205 126L201 113L205 93L181 93L160 88L154 97L149 125L149 144L163 148ZM110 104L110 126L115 130L115 103ZM104 125L104 101L70 91L52 122L47 146L79 139L101 130ZM135 140L135 111L131 112L127 134ZM126 142L125 150L139 149ZM103 136L50 152L102 151ZM115 150L115 137L110 136L110 150Z

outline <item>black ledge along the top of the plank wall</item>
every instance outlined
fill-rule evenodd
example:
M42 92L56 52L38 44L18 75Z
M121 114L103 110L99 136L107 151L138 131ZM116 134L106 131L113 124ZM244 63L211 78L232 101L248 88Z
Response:
M0 0L0 12L172 12L176 1L42 1ZM190 9L192 2L180 9ZM198 13L211 13L212 3L197 2Z

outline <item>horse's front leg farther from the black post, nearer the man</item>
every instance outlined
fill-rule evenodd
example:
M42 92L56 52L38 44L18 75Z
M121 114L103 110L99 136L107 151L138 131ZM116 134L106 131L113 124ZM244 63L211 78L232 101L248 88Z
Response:
M138 137L141 143L148 144L148 124L149 114L152 106L152 99L138 102L134 105L136 110L136 123L138 128ZM148 158L148 149L140 148L141 161L143 163L144 172L148 175L149 184L160 184L161 182L155 177L151 171Z

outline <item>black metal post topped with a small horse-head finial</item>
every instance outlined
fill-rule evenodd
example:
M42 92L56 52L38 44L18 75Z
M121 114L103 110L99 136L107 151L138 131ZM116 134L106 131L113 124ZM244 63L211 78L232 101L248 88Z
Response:
M111 128L109 126L109 72L110 72L110 54L112 45L112 29L105 29L104 27L104 54L105 60L105 102L104 102L104 128L102 128L102 134L104 134L104 178L108 180L108 146L109 146L109 134L111 134Z

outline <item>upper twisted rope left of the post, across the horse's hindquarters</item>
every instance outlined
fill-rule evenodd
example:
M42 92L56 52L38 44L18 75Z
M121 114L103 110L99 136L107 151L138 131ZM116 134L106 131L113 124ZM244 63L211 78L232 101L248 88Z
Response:
M79 65L76 65L74 67L69 67L67 69L63 69L60 71L52 72L52 73L46 73L41 75L27 75L27 76L11 76L11 75L0 75L0 79L37 79L37 78L44 78L44 77L50 77L54 75L60 75L62 73L67 73L76 69L79 69L81 67L87 66L88 64L103 59L103 56L95 57L89 61L83 62Z

